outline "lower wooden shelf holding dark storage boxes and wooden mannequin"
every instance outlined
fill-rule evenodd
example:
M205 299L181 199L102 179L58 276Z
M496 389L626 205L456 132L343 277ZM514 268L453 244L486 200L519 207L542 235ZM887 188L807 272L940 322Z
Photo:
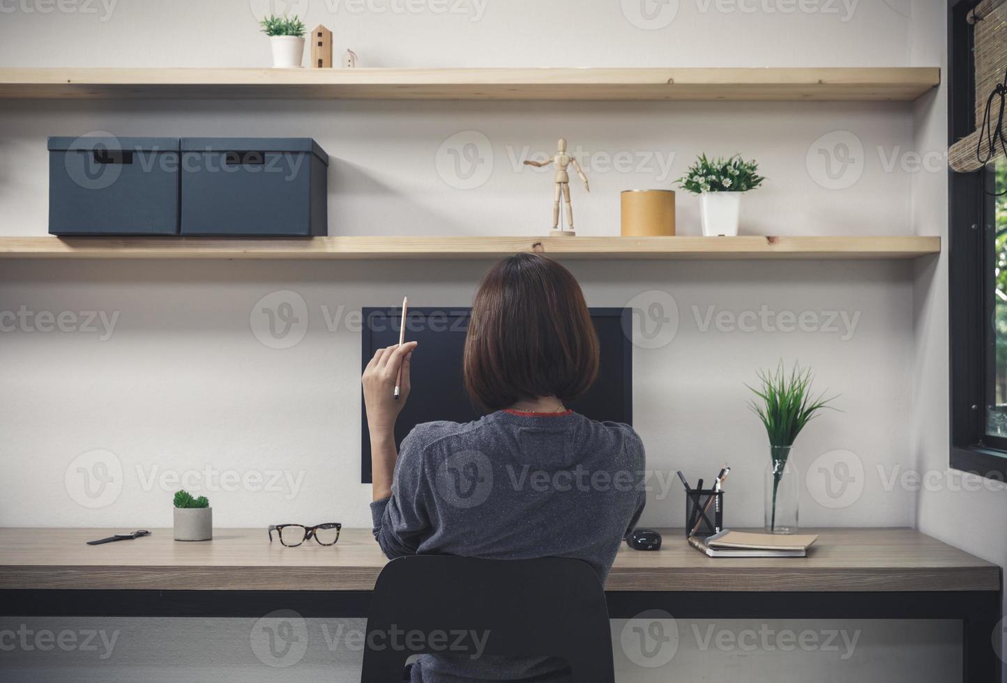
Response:
M498 259L540 251L595 260L863 260L940 253L940 237L414 237L304 239L0 237L0 259Z

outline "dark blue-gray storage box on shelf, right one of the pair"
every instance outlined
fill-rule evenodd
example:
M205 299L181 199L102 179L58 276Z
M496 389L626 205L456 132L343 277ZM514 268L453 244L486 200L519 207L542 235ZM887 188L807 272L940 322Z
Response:
M328 155L311 138L182 138L181 234L328 233Z

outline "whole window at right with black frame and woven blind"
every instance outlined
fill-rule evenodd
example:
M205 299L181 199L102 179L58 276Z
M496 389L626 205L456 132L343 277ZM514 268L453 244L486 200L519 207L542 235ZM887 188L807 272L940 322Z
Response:
M951 466L1007 480L1007 2L950 0Z

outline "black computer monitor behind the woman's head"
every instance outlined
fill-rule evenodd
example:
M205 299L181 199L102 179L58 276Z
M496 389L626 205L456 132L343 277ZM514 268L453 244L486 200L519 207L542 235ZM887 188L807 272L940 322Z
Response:
M569 407L592 419L632 423L632 343L624 332L631 330L630 311L592 308L590 312L600 345L598 379ZM468 308L409 309L406 339L420 346L410 373L412 392L395 426L397 447L421 422L468 422L482 414L469 399L461 372L470 313ZM365 308L363 314L362 368L378 349L399 343L402 310ZM361 409L362 481L370 484L371 435L363 400Z

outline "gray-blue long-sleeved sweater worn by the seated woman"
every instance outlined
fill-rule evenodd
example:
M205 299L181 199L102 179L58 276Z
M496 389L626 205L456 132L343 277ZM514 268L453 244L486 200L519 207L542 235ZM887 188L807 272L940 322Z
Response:
M400 451L392 497L371 506L375 538L390 558L575 557L604 582L645 502L636 433L576 412L427 422ZM555 658L424 655L412 680L553 683L568 680L565 668Z

